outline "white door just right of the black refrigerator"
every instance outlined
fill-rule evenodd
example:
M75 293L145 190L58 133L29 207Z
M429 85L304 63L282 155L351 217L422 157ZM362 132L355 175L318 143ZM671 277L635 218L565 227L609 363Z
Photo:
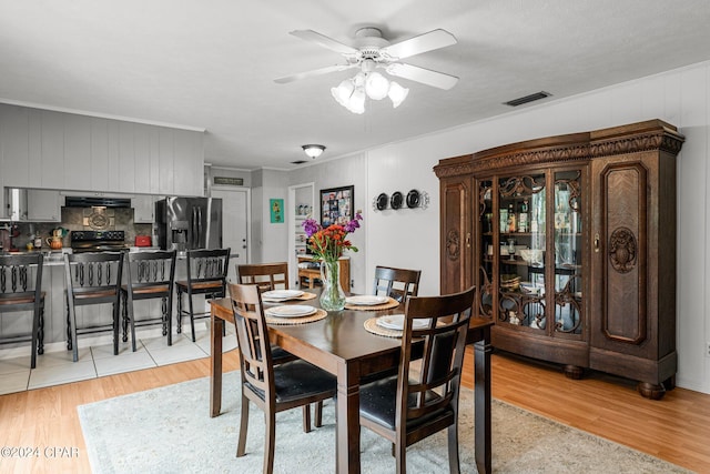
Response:
M232 249L227 281L237 283L236 265L250 262L251 190L213 185L211 195L222 199L222 246Z

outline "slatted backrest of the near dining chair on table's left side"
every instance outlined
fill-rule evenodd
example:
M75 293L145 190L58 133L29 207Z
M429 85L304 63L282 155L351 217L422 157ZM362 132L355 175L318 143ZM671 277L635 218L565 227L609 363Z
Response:
M254 284L229 284L236 329L243 380L263 391L266 400L274 386L271 343L262 306L261 291Z

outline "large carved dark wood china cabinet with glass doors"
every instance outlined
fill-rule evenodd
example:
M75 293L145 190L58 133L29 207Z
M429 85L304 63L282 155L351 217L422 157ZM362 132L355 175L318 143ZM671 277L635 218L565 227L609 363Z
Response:
M674 386L676 157L659 120L440 160L442 292L476 285L494 347Z

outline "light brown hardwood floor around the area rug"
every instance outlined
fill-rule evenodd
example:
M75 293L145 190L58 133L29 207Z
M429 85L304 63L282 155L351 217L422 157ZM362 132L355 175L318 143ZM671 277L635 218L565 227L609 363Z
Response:
M468 367L471 360L469 352ZM225 354L224 364L225 371L239 369L236 351ZM692 471L710 472L710 395L676 389L661 401L649 401L623 379L591 373L572 381L555 366L506 354L493 356L491 372L493 395L498 400ZM39 452L32 458L0 457L0 472L89 473L78 405L209 374L209 359L202 359L2 395L0 447ZM467 386L471 382L470 376L464 380Z

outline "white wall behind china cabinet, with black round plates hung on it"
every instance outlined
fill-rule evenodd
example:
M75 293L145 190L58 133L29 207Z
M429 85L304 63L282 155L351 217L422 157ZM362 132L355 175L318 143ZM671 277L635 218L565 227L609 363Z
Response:
M404 105L406 108L406 103ZM406 113L406 110L402 110ZM677 125L686 135L678 159L678 386L710 393L710 63L668 71L570 99L528 107L507 115L389 144L342 160L290 173L291 184L316 183L316 190L355 184L363 232L354 240L365 251L355 273L368 291L377 264L422 269L420 294L439 289L439 159L528 139L591 131L649 119ZM363 180L362 174L365 173ZM351 178L349 180L347 178ZM373 211L381 192L428 192L429 209ZM365 235L365 244L361 239ZM364 256L364 260L362 260Z

